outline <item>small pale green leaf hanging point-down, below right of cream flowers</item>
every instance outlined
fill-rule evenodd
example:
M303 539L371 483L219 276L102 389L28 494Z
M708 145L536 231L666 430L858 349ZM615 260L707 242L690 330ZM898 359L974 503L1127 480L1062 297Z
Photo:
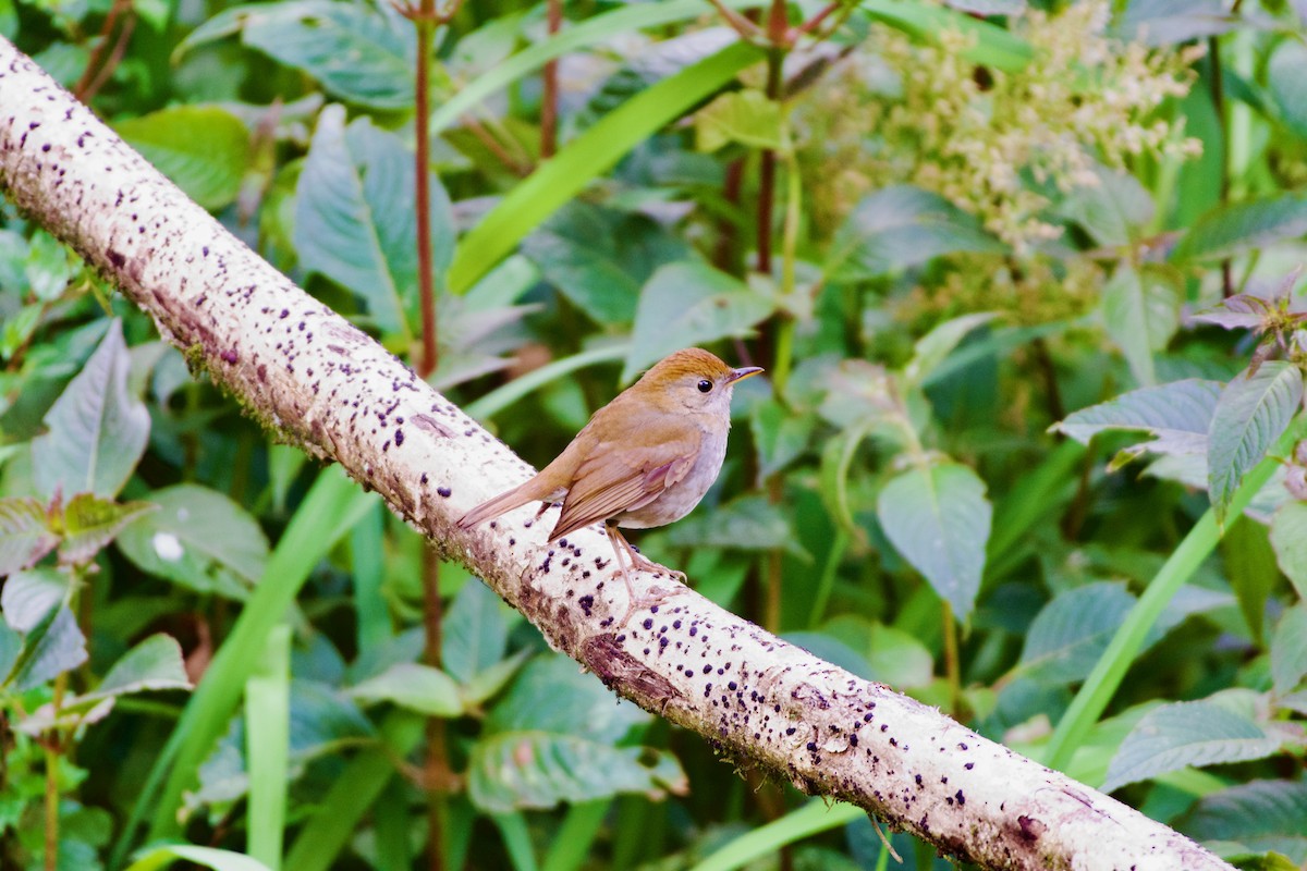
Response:
M1153 354L1180 326L1179 289L1155 272L1121 262L1103 286L1103 325L1125 355L1141 387L1157 383Z

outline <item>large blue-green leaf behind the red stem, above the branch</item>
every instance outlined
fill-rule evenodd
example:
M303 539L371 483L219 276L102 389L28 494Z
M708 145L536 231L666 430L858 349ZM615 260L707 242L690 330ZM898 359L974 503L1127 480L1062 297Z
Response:
M443 276L454 252L454 218L433 174L431 260ZM295 185L294 243L301 265L358 294L388 333L408 334L417 308L417 209L413 155L366 118L345 127L328 106Z

